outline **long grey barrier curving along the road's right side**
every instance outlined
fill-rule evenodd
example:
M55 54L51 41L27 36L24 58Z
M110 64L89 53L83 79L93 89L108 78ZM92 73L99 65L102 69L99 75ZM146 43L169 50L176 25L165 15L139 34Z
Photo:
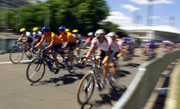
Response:
M141 109L150 97L160 74L180 57L180 50L174 50L139 67L135 78L112 109Z

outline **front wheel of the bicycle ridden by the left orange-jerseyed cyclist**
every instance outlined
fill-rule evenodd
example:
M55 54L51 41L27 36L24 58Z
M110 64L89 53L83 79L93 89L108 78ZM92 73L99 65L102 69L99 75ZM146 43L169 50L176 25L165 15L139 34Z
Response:
M45 73L45 64L40 59L34 59L31 63L29 63L26 71L27 79L36 83L42 79Z

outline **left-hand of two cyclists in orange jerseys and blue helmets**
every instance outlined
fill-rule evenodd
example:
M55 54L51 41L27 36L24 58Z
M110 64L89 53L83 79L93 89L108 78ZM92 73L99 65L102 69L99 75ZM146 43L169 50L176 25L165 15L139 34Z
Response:
M57 74L59 72L59 62L57 59L57 55L60 52L61 48L62 48L62 39L59 38L55 33L50 32L50 27L48 26L44 26L42 27L41 31L43 32L43 35L41 37L41 40L39 43L37 43L35 45L34 48L39 47L40 45L42 45L43 41L46 40L47 42L49 42L49 45L47 45L45 47L46 51L49 51L50 49L53 51L53 58L56 64L56 68L55 70L55 74Z

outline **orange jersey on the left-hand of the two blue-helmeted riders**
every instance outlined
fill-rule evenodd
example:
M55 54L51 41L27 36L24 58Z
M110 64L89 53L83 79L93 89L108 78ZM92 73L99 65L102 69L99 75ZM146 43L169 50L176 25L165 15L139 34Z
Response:
M58 45L62 43L63 39L59 38L55 33L51 32L48 36L42 35L41 38L42 41L46 40L47 42L51 42L52 40L54 41L55 45Z

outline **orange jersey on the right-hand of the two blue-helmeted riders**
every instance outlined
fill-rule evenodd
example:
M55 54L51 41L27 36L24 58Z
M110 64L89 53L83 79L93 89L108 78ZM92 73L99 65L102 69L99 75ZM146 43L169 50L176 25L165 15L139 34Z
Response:
M71 32L65 32L64 35L59 35L59 38L70 43L76 43L76 38Z

